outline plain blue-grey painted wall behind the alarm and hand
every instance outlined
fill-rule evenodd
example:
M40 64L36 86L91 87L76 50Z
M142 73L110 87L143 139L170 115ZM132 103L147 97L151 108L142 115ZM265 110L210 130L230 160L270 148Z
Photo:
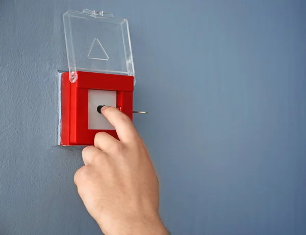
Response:
M0 234L100 234L81 149L56 146L62 14L83 8L129 19L172 234L306 234L303 0L0 0Z

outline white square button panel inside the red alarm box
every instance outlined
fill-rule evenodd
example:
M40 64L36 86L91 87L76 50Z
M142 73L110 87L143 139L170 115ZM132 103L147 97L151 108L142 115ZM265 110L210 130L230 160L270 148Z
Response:
M89 130L115 130L104 115L98 113L99 105L117 106L117 92L115 91L88 91L88 129Z

